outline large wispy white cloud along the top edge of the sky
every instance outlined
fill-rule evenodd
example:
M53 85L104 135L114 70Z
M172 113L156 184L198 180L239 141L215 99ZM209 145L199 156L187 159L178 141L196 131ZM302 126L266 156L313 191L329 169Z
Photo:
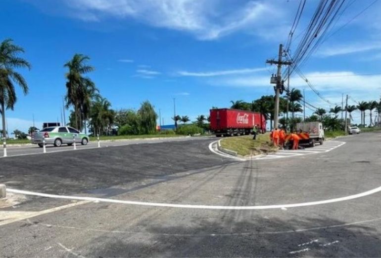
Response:
M63 0L67 15L87 22L132 18L150 26L184 31L210 40L247 30L269 37L286 16L273 0ZM277 17L277 19L269 19ZM288 20L287 20L288 22ZM283 25L280 25L281 27ZM272 28L267 30L266 28Z

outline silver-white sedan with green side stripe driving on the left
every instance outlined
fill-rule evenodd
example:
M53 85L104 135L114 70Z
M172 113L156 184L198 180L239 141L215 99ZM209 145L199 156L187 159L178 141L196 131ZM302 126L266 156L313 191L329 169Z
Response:
M52 144L56 147L60 147L62 144L71 146L74 142L82 145L89 143L89 136L81 134L78 130L68 126L46 127L40 132L34 133L31 142L43 147L44 139L45 144Z

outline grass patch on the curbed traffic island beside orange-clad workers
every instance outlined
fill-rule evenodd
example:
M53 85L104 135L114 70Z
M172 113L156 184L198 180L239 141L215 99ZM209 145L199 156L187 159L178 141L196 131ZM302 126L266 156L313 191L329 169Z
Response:
M252 135L227 137L221 140L221 147L236 151L238 155L242 156L277 151L277 148L270 144L269 133L258 134L255 141Z

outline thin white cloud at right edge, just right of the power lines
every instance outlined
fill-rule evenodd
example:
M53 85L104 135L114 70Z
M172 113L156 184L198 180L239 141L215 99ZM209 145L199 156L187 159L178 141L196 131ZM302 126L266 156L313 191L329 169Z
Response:
M346 45L327 46L318 51L316 55L322 57L330 57L365 52L375 49L381 49L381 42L356 42Z

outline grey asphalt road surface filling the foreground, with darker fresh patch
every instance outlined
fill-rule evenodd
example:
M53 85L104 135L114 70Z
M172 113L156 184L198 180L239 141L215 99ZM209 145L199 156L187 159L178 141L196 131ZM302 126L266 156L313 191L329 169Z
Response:
M380 133L341 138L346 144L328 153L244 162L211 153L213 140L8 157L0 159L0 182L52 194L212 206L305 203L381 185ZM381 256L381 192L251 210L19 197L21 204L0 209L16 218L0 218L1 257Z

